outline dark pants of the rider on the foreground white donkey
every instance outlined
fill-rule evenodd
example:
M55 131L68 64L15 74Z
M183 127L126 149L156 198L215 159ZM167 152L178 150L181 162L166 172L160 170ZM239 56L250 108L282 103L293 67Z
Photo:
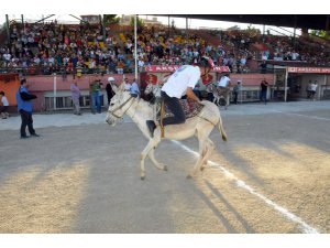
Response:
M178 125L186 122L186 116L183 110L183 107L179 103L179 99L176 97L169 97L166 93L161 91L162 99L173 112L174 117L166 117L163 119L163 126L166 125Z

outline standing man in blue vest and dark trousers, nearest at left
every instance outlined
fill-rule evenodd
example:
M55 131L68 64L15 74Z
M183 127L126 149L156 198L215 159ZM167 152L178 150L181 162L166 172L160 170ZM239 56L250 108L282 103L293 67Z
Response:
M32 100L36 98L35 95L32 95L28 90L29 83L25 78L21 79L21 86L16 91L16 101L18 101L18 110L21 115L22 123L21 123L21 139L26 139L26 126L29 132L33 137L40 137L35 133L33 128L33 119L32 119Z

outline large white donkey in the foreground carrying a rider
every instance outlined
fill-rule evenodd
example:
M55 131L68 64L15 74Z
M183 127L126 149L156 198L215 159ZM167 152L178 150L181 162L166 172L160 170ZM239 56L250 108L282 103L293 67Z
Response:
M154 137L151 137L145 123L146 120L153 119L152 106L142 98L132 97L129 91L124 90L123 84L119 87L113 85L112 89L116 95L111 98L106 121L109 125L114 126L123 115L128 115L148 139L148 143L141 153L141 180L145 179L144 161L146 155L148 155L157 169L167 171L167 166L160 163L154 155L154 150L162 141L161 128L157 127L154 131ZM164 129L164 138L166 139L184 140L193 136L197 136L198 138L199 159L195 164L193 173L189 173L187 177L195 176L197 171L202 170L207 164L208 158L215 148L213 142L209 139L215 126L218 126L222 140L227 141L227 134L222 126L219 108L210 101L202 101L202 105L204 108L201 111L197 116L187 119L185 123L165 126Z

